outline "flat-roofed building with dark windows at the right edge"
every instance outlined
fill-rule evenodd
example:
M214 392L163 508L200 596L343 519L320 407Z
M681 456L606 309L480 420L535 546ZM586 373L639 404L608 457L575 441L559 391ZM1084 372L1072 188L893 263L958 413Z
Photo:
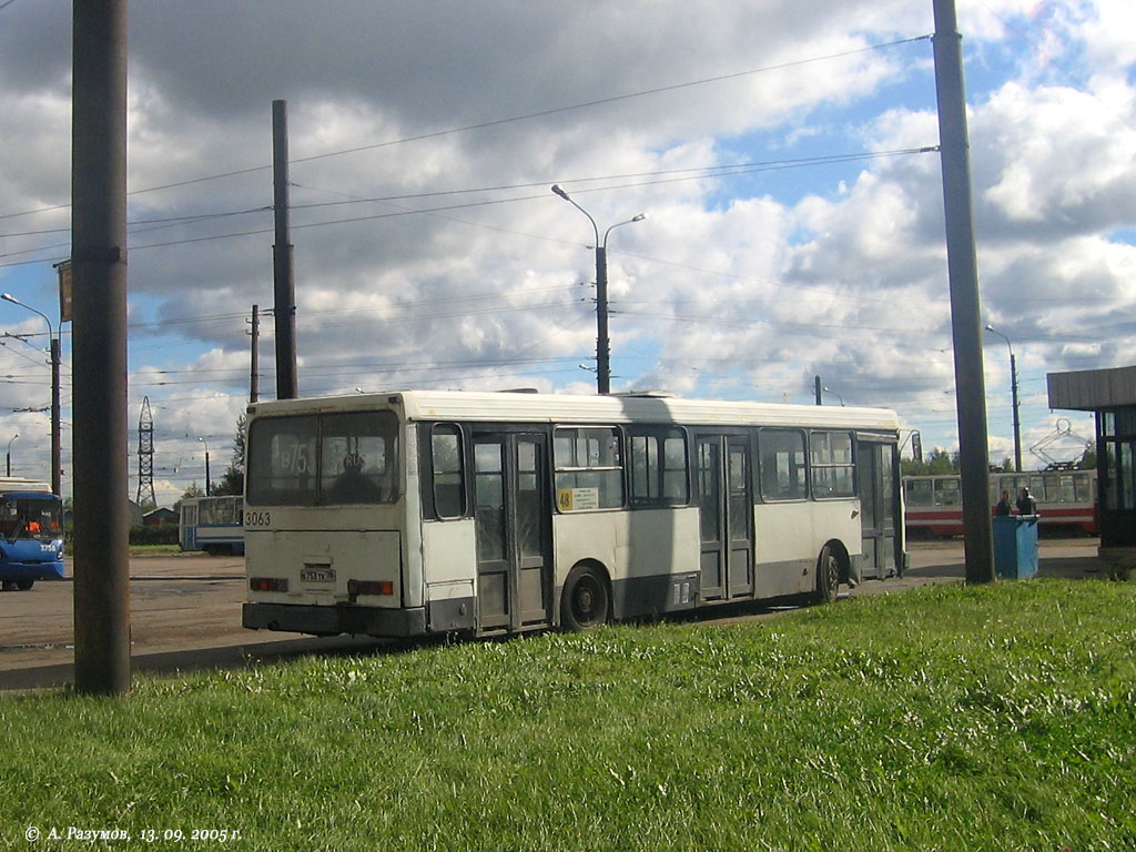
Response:
M1101 556L1136 557L1136 367L1046 376L1050 408L1096 414Z

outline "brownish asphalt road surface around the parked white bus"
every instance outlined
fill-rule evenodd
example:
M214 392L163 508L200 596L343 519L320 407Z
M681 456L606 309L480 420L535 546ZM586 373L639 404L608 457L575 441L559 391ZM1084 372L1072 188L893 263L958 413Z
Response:
M1041 573L1100 577L1096 538L1041 543ZM902 578L869 580L842 596L902 592L964 577L961 541L910 545L911 569ZM70 567L68 566L68 576ZM253 665L302 653L373 650L389 642L245 630L241 627L244 562L240 557L177 554L131 560L131 649L136 671L186 671ZM721 612L722 619L762 618L774 610ZM73 585L36 583L27 592L0 593L0 691L70 683L74 663Z

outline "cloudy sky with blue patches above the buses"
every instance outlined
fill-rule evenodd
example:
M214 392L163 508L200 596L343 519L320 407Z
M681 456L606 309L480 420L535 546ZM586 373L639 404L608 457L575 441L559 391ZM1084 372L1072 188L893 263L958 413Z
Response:
M1045 374L1136 362L1136 6L958 14L983 314L1033 467L1059 417L1093 434ZM933 30L932 0L131 0L128 418L149 395L159 502L203 483L199 437L219 478L248 401L276 99L301 395L593 392L595 237L559 183L601 233L648 216L608 241L613 390L810 403L819 375L955 448ZM70 2L0 3L0 290L52 323L69 149ZM47 479L45 325L0 303L0 443ZM273 352L264 316L261 399ZM985 356L997 460L1005 340Z

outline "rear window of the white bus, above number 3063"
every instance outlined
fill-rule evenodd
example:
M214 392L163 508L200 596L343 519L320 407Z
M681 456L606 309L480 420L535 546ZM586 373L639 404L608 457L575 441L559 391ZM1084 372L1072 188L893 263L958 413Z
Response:
M398 496L390 411L266 417L249 434L252 506L390 503Z

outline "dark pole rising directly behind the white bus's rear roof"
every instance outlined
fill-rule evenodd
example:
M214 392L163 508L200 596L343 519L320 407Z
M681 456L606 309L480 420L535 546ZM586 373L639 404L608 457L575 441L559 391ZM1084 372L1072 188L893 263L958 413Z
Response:
M276 317L276 398L299 395L295 370L295 277L289 226L287 101L273 101L273 283Z

